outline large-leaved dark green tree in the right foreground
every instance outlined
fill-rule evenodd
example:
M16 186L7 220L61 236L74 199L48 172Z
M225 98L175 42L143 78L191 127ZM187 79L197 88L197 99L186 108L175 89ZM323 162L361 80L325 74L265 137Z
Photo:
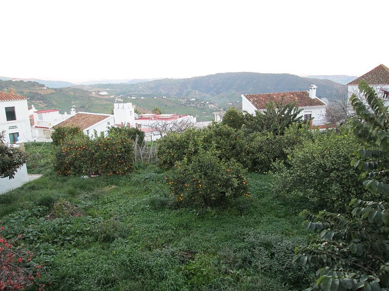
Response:
M318 232L309 246L297 248L295 258L301 264L312 262L321 267L311 290L389 289L389 110L366 82L359 83L359 90L367 104L351 97L360 118L353 121L354 133L377 148L356 151L352 164L363 170L365 187L382 195L384 201L353 200L353 210L344 215L301 213L307 219L305 228Z

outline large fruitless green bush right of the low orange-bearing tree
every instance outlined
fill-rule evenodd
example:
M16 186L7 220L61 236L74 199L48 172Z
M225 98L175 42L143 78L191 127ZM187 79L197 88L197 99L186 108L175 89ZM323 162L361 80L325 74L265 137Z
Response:
M316 132L289 151L286 162L275 163L274 186L289 198L303 197L318 209L344 211L352 197L371 198L358 181L359 172L350 167L351 153L360 146L343 128Z

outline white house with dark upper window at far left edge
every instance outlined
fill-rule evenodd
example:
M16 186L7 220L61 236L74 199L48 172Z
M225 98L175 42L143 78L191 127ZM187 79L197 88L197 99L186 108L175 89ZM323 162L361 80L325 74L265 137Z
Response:
M15 94L13 89L0 92L0 131L5 131L6 143L33 140L27 99Z

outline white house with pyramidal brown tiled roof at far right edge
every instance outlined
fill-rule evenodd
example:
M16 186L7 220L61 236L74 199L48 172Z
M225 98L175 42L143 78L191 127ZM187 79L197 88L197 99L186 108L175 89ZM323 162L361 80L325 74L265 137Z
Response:
M361 80L366 81L371 87L375 89L378 97L383 98L387 103L389 103L389 68L387 66L379 65L366 74L349 82L347 84L349 98L353 94L359 95L358 84Z

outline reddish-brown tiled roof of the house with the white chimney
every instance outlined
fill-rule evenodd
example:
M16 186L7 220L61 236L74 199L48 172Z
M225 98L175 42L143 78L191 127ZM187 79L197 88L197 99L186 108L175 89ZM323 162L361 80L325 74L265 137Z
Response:
M257 110L266 109L266 104L269 101L281 103L296 102L298 107L318 107L326 106L326 104L318 98L309 97L307 91L294 91L294 92L281 92L281 93L265 93L265 94L244 94L244 97L248 99L254 105Z

